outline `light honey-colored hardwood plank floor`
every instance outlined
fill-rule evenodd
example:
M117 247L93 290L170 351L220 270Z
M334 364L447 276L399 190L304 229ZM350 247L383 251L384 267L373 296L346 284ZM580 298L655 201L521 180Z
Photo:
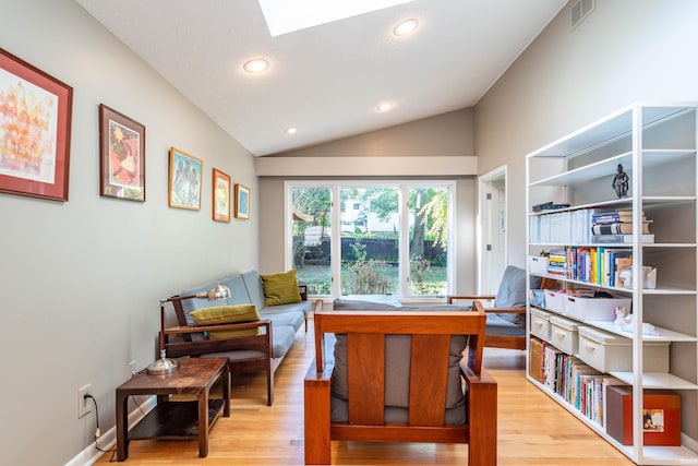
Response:
M303 378L313 359L312 325L276 372L274 406L266 406L264 374L233 379L232 409L210 431L208 457L197 442L133 441L129 465L302 465ZM633 465L623 454L525 378L524 351L485 349L498 382L498 465ZM106 453L97 464L108 463ZM466 465L468 445L333 442L338 465Z

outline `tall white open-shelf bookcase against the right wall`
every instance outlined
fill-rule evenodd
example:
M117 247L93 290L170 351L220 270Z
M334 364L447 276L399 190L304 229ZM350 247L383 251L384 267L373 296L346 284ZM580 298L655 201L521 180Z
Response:
M622 328L613 321L578 315L575 320L578 325L617 335L631 346L634 369L607 375L633 387L633 445L622 445L606 433L604 426L588 419L565 397L531 375L530 339L534 335L530 333L530 320L527 377L638 465L698 465L697 110L698 103L631 105L527 156L530 255L567 248L631 249L634 277L629 288L589 283L571 273L551 276L537 272L539 276L557 279L565 289L593 288L631 299L635 321L630 328ZM618 164L629 176L628 196L622 199L617 199L612 187ZM534 205L551 201L569 206L533 213ZM633 213L631 242L573 242L570 238L578 236L569 230L578 224L570 227L565 222L575 212L621 207ZM568 214L558 215L565 212ZM653 220L650 232L654 242L640 239L642 215ZM657 267L654 288L642 283L642 264ZM529 315L531 308L529 304ZM557 314L565 312L558 310ZM658 334L643 335L642 322L652 323ZM669 370L643 371L643 345L657 342L669 345ZM681 446L643 445L642 394L658 390L681 396Z

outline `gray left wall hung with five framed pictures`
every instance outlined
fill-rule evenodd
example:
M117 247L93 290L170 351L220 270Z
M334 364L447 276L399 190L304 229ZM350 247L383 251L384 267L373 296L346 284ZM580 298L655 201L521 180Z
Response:
M0 194L0 463L65 464L105 433L115 389L155 357L158 301L257 265L252 219L212 220L210 170L256 193L253 159L71 0L0 0L0 45L74 88L70 199ZM146 202L99 196L98 105L146 127ZM201 211L167 205L168 150L204 160ZM133 405L131 405L133 406Z

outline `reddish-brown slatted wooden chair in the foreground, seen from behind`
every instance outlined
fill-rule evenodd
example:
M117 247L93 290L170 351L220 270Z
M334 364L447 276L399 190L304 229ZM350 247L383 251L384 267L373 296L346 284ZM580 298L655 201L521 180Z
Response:
M482 367L485 313L472 311L316 311L315 361L305 377L305 464L329 464L333 440L364 442L469 443L468 464L496 464L497 385ZM332 420L335 367L325 355L325 337L346 334L348 421ZM386 421L386 342L410 335L409 406L405 422ZM446 422L447 373L452 336L469 335L456 372L457 390L468 385L465 423ZM465 339L465 338L464 338ZM458 350L460 351L460 349ZM337 368L339 361L337 360ZM459 370L458 370L459 369Z

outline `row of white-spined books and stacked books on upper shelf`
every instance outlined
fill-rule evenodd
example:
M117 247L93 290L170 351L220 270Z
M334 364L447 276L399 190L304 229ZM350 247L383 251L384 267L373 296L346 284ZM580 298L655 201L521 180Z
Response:
M642 213L642 240L653 242ZM615 235L615 237L606 237ZM603 238L599 238L603 237ZM580 208L531 215L529 239L535 243L589 244L594 242L631 242L633 213L629 210Z

